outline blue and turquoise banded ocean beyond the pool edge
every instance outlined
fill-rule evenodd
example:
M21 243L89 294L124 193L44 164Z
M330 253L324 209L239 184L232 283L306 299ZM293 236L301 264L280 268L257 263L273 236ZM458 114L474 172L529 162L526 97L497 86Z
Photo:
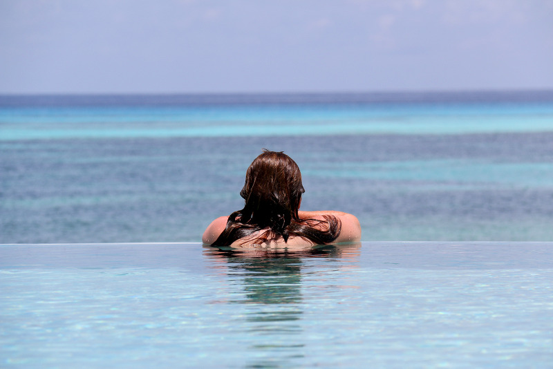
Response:
M553 241L553 91L0 96L0 243L200 242L263 148L364 241Z

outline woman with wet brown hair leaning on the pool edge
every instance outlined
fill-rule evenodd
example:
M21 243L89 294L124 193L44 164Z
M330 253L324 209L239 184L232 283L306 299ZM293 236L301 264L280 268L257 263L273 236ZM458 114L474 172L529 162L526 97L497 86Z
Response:
M214 246L305 247L361 240L355 216L341 211L299 211L301 173L282 152L263 150L246 171L245 205L214 220L203 243Z

